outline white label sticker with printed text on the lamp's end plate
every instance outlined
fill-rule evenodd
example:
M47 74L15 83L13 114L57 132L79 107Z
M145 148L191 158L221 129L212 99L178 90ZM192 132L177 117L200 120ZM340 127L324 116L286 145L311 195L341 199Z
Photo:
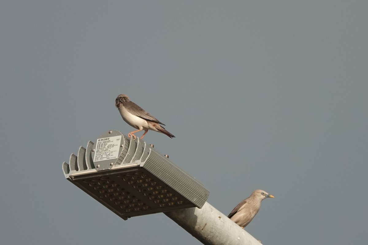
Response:
M119 157L121 136L97 139L93 162L116 159Z

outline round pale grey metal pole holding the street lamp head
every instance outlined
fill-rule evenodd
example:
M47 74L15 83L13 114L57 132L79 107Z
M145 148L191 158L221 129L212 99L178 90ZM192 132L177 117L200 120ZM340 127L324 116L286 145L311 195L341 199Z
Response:
M205 245L260 245L252 235L208 202L199 208L164 213Z

